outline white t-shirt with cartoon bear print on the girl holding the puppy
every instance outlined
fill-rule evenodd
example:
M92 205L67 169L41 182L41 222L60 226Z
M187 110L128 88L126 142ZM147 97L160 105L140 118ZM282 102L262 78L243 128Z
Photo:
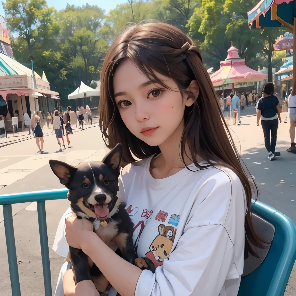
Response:
M137 255L158 266L155 274L142 271L135 296L237 296L246 212L238 176L228 169L191 165L194 172L184 168L155 179L149 172L151 159L123 168L119 181L120 198L134 223ZM62 241L57 231L53 249L59 254ZM65 250L67 255L67 245ZM116 295L115 289L108 295Z

